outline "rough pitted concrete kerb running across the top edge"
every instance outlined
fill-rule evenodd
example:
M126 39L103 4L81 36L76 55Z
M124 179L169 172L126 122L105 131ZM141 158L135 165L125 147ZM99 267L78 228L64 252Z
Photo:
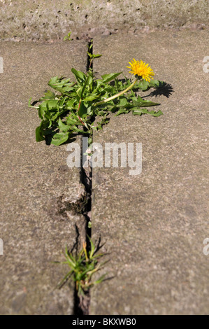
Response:
M48 40L127 29L208 26L208 0L2 0L0 38Z

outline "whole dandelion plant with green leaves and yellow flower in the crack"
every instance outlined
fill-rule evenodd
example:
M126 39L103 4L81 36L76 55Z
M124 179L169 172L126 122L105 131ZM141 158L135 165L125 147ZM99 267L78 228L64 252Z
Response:
M99 56L92 55L91 60ZM38 100L38 106L32 106L29 100L29 106L38 110L41 119L41 125L36 128L36 141L46 140L59 146L69 141L74 134L86 134L91 144L93 131L101 130L108 123L110 113L115 113L115 116L129 112L134 116L161 116L163 113L160 110L146 109L158 103L145 100L136 92L157 88L163 82L153 80L154 72L142 60L133 59L129 64L127 67L134 74L134 79L122 76L122 72L95 78L92 69L87 73L71 69L75 80L63 76L51 78L48 85L54 91L47 90ZM96 120L98 117L101 119Z

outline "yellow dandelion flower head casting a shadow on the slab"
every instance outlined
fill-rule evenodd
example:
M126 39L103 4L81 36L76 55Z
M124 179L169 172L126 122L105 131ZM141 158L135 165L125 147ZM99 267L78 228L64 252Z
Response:
M131 71L129 73L133 73L135 76L141 76L144 80L150 82L150 79L153 79L154 72L152 71L149 64L145 64L143 60L140 62L136 59L129 62L130 66L127 66Z

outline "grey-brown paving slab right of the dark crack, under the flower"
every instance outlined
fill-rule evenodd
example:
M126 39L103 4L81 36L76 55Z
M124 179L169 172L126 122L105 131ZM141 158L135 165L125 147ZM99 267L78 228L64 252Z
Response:
M91 314L208 314L208 84L206 31L94 38L101 74L143 59L173 87L164 116L112 116L94 142L142 143L142 173L93 169L92 238L105 243L113 279L92 289Z

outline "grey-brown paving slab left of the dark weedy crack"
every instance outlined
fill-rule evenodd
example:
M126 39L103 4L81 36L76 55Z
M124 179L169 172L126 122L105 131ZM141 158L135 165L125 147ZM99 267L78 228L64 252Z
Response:
M66 145L36 143L40 119L27 103L43 96L52 76L72 76L72 66L85 70L86 44L1 42L0 56L0 313L72 314L73 286L55 290L68 267L52 262L64 260L83 221L64 202L85 191L79 169L66 166Z

